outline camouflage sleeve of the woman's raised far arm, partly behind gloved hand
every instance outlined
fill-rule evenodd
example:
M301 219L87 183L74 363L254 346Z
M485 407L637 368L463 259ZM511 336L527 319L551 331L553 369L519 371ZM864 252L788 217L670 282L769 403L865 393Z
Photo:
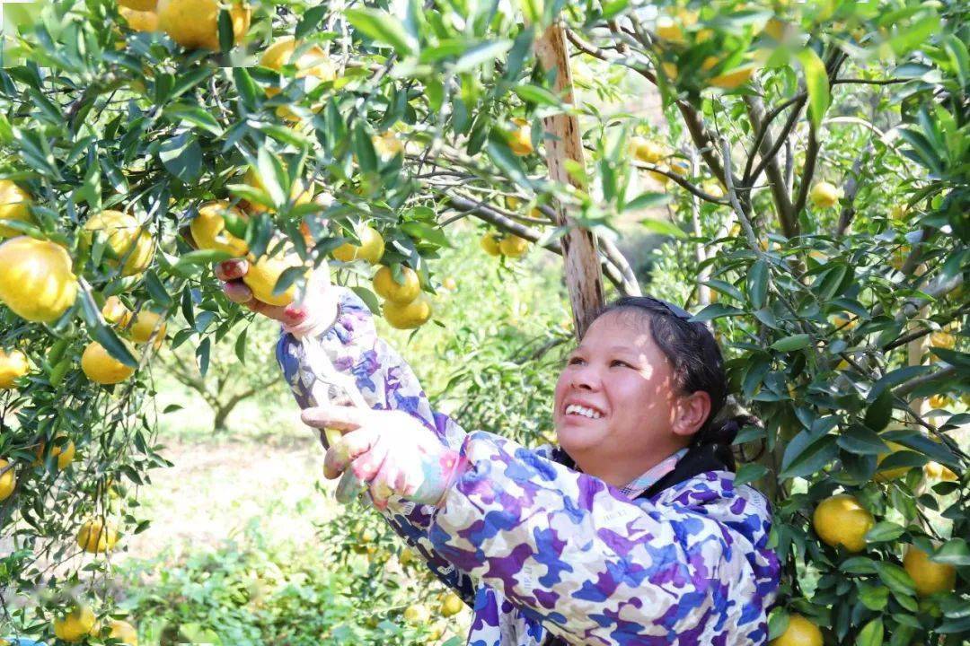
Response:
M276 360L300 408L316 405L312 397L315 375L307 354L308 345L316 344L340 373L353 377L368 406L413 415L441 442L456 449L460 447L465 432L447 415L432 411L413 370L377 336L371 310L364 301L346 288L333 289L339 291L339 309L332 325L303 340L284 332L276 345ZM384 512L394 531L421 553L445 585L469 600L474 592L469 577L441 558L426 538L434 509L413 505L396 508L396 513Z

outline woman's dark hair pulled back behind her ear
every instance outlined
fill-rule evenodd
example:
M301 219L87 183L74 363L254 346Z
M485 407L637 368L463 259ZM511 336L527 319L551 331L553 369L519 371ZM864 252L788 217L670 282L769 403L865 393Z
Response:
M760 425L751 415L723 415L727 403L724 357L714 335L704 323L692 323L691 315L666 301L650 296L623 296L603 307L597 319L609 312L635 312L650 321L654 342L673 366L674 381L685 393L706 392L711 412L697 429L691 443L713 445L717 456L734 470L731 449L738 431Z

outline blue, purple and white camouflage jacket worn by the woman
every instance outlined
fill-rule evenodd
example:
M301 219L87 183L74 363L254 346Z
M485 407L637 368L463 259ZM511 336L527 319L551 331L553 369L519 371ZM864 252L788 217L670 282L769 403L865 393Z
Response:
M767 641L779 563L758 491L718 471L631 500L556 462L552 446L466 433L432 411L411 368L377 336L367 305L335 289L337 321L309 340L283 334L276 358L307 408L305 344L320 344L373 409L414 415L469 460L438 508L399 500L382 513L473 608L470 646Z

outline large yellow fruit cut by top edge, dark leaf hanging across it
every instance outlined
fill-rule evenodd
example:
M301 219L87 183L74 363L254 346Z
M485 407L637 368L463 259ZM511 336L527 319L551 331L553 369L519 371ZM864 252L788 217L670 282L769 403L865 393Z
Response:
M188 49L219 49L219 0L158 0L158 26L178 45ZM229 10L233 42L240 44L249 31L252 11L237 2Z

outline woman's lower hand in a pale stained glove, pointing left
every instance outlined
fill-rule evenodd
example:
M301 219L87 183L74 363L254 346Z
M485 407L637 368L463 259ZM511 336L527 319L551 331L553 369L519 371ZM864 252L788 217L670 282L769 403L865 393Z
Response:
M327 450L323 467L324 477L343 476L338 485L340 502L347 502L366 485L380 509L387 508L392 495L437 506L468 465L403 411L322 406L304 411L303 420L315 428L344 432Z

